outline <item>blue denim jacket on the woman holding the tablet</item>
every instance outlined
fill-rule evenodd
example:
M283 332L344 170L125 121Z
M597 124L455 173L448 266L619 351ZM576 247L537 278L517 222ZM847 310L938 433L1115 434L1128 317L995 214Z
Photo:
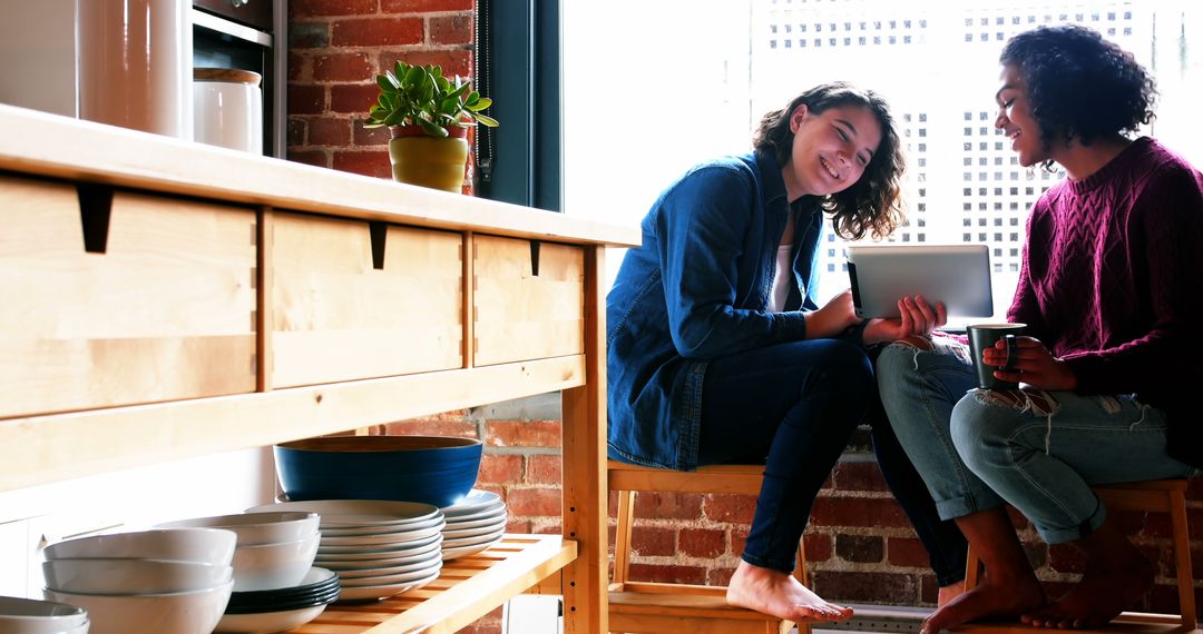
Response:
M610 457L697 468L709 361L806 337L801 311L768 306L793 213L787 306L817 309L818 202L790 205L781 166L765 152L694 167L660 195L606 298Z

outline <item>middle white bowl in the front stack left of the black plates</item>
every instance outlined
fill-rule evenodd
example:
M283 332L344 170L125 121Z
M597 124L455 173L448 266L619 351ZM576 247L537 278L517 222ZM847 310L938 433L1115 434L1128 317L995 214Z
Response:
M51 560L42 562L46 587L84 594L162 594L220 586L233 568L164 560Z

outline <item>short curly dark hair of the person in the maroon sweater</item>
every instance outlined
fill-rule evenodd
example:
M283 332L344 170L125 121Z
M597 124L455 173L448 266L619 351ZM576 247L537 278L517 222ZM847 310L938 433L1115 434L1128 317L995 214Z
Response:
M1024 78L1045 150L1057 138L1090 145L1125 136L1155 116L1152 77L1131 53L1085 26L1038 26L1015 35L998 61Z

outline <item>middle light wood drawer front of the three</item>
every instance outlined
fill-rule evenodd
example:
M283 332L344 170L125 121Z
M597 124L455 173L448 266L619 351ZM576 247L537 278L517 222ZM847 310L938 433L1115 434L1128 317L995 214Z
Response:
M461 234L387 226L375 269L367 222L277 214L271 233L273 387L462 366Z

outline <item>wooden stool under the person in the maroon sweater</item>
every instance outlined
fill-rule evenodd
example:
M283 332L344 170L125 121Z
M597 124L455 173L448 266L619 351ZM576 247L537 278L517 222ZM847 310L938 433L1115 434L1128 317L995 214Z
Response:
M1186 480L1148 480L1125 484L1108 484L1094 488L1109 510L1142 510L1169 513L1174 540L1174 572L1178 574L1178 602L1180 615L1124 612L1109 626L1114 632L1119 626L1138 632L1190 632L1196 628L1195 576L1191 570L1191 543L1186 526ZM980 560L970 548L965 567L965 588L977 585ZM1172 627L1166 627L1172 626ZM958 630L998 629L990 624L970 624ZM1009 626L1002 629L1033 632L1029 626ZM1081 632L1081 630L1075 630Z

